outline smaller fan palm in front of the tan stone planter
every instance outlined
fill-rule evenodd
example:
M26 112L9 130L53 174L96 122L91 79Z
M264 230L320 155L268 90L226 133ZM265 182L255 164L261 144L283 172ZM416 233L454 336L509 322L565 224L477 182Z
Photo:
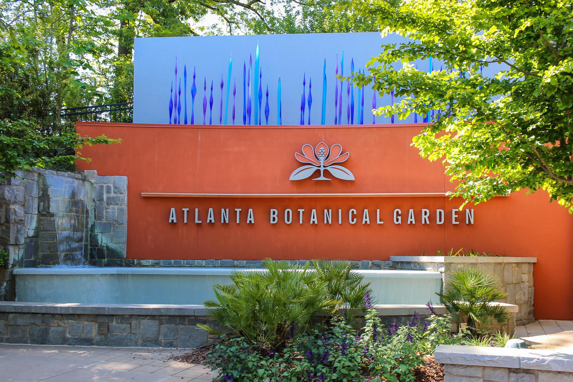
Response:
M499 290L498 282L497 277L486 272L463 269L453 274L444 293L436 294L458 323L458 328L465 317L475 336L477 329L488 326L492 320L502 325L511 320L511 314L504 306L492 305L507 296Z

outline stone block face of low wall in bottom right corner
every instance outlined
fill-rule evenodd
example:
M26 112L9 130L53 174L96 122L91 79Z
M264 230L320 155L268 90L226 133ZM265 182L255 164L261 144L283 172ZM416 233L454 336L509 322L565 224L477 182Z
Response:
M444 382L571 382L573 373L503 367L444 365Z

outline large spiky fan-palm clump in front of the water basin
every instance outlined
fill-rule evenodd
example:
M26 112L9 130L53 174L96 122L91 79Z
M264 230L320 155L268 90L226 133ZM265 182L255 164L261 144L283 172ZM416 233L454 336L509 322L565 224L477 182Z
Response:
M284 347L286 339L304 332L318 314L332 314L341 306L361 308L350 288L366 290L362 276L343 262L316 262L317 270L265 259L266 270L231 274L233 285L215 285L216 300L205 301L210 316L223 326L211 333L231 332L249 344Z

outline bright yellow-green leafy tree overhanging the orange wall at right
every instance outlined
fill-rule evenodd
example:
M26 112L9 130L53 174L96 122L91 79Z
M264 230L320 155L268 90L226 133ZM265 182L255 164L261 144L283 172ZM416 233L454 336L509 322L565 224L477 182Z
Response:
M354 9L376 19L386 44L368 64L380 93L401 100L379 115L430 113L413 145L443 160L453 196L483 202L526 188L546 190L573 213L573 28L566 0L384 0ZM439 60L425 73L409 64ZM403 62L394 70L395 63ZM482 76L493 66L496 76ZM437 65L434 65L437 69Z

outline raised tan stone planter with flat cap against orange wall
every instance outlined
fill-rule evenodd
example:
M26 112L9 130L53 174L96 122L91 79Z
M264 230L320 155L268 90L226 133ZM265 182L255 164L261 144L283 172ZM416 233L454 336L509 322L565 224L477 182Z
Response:
M533 263L536 257L469 257L469 256L391 256L395 269L433 270L444 274L448 283L460 269L477 268L497 276L507 296L500 302L519 306L516 324L524 325L533 318ZM437 296L436 296L437 297Z

